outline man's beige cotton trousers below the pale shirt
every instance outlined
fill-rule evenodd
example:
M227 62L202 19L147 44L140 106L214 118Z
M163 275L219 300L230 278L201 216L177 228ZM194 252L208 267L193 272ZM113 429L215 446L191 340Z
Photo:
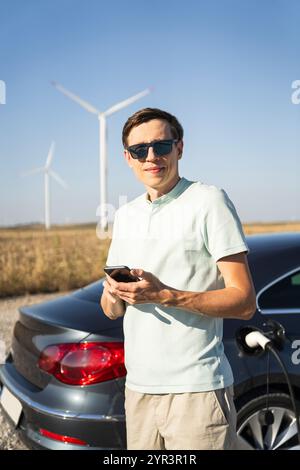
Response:
M152 395L125 387L127 449L237 449L233 387Z

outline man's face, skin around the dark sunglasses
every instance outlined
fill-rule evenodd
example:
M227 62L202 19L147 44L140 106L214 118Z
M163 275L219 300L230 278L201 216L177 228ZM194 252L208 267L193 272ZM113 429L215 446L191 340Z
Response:
M162 119L152 119L130 131L127 146L166 139L173 139L169 123ZM168 191L178 180L178 160L181 158L182 149L183 142L179 141L172 145L168 155L162 157L155 156L153 147L148 149L148 155L144 159L132 158L127 150L124 150L124 156L137 179L146 187Z

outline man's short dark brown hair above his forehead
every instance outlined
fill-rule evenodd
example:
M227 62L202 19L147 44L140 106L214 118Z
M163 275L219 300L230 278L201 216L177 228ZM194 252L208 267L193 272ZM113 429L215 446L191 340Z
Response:
M134 113L125 122L122 131L122 142L124 147L127 147L127 139L131 130L144 122L152 121L152 119L163 119L167 121L170 124L173 139L181 140L183 138L182 125L175 116L158 108L144 108Z

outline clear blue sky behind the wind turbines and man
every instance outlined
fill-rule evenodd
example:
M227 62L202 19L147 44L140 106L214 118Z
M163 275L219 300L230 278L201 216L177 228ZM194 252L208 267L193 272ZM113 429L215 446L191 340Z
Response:
M0 225L42 221L52 140L53 223L98 221L98 121L50 81L105 110L109 202L144 191L125 165L127 117L152 106L185 129L180 175L224 188L243 222L300 220L297 0L0 0Z

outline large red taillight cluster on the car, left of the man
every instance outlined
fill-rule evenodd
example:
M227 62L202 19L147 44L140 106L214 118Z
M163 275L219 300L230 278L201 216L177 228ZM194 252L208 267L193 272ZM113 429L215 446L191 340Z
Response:
M40 369L69 385L90 385L124 377L124 343L65 343L48 346Z

